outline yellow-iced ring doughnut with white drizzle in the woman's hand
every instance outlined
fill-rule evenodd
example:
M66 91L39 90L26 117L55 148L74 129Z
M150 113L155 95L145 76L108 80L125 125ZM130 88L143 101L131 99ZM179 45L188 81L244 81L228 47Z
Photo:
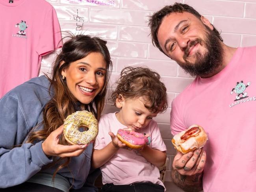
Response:
M63 135L72 145L88 144L98 134L98 121L88 111L76 111L64 121Z

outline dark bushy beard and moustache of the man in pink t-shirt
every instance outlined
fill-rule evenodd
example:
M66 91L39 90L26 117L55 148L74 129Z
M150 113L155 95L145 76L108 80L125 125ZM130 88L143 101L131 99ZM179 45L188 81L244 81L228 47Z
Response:
M189 48L197 43L206 47L206 53L202 55L200 52L196 52L195 63L190 63L187 61ZM217 37L210 28L207 28L205 40L197 38L194 41L191 41L185 50L183 59L185 63L177 63L191 76L204 77L208 74L214 73L223 61L223 47L221 46L219 37Z

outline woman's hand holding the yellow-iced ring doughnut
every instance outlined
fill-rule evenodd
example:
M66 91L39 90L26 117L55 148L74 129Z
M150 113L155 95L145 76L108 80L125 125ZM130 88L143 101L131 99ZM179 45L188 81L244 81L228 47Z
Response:
M63 133L63 125L55 131L52 131L50 135L42 143L42 148L47 156L57 157L74 157L83 153L88 145L60 145L59 136Z

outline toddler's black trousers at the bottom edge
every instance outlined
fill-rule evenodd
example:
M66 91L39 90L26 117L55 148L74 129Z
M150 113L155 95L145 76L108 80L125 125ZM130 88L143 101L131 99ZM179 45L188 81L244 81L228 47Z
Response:
M151 182L132 183L130 185L107 183L102 186L101 192L164 192L164 188Z

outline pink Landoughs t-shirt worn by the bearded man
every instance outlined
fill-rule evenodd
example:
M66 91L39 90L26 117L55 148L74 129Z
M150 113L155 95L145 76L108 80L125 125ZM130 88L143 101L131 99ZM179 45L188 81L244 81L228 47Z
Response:
M206 130L204 192L256 191L256 47L237 48L211 78L196 78L172 103L171 132Z

